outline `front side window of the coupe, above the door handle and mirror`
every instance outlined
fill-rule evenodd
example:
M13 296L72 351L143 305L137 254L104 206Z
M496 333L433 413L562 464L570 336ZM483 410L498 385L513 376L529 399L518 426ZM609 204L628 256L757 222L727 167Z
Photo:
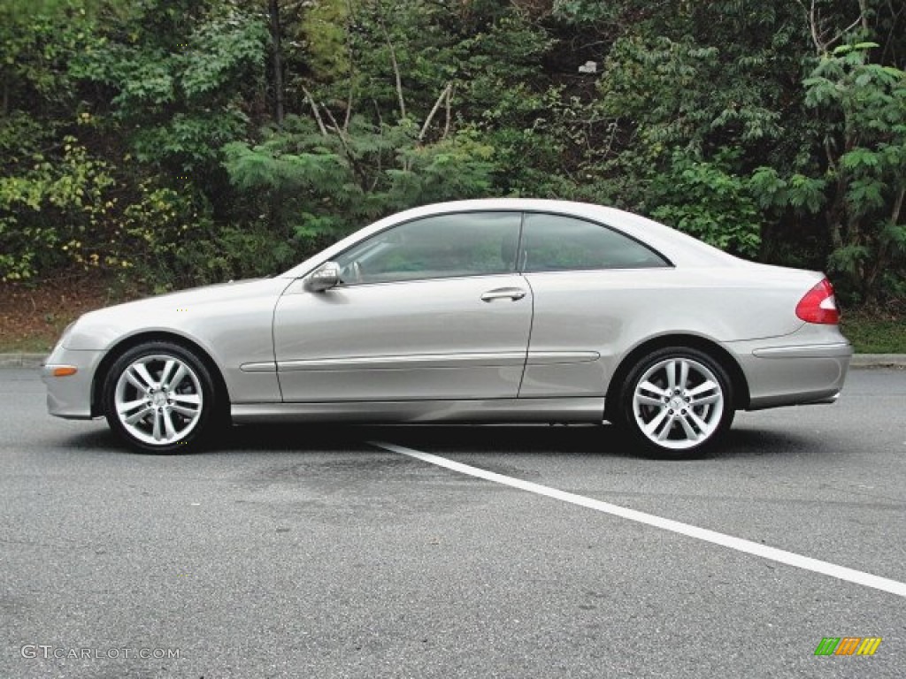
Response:
M516 271L519 213L417 219L371 236L336 258L342 282L413 281Z

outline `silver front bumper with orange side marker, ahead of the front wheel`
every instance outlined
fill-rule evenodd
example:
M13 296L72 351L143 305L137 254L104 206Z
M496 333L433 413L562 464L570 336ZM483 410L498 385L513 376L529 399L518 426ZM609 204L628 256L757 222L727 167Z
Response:
M74 351L58 345L41 368L47 385L47 412L66 419L92 419L92 381L105 351ZM55 377L56 368L75 368L72 375Z

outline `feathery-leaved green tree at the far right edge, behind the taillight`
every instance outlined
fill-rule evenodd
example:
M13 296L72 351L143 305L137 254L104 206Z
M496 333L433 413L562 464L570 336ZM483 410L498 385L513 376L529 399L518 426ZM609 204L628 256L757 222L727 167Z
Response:
M869 301L906 263L906 73L869 62L878 47L837 47L805 80L826 130L829 265Z

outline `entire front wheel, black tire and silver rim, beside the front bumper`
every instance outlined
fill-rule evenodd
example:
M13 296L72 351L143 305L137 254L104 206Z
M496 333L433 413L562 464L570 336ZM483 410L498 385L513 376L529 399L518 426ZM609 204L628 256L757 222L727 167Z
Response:
M215 385L190 349L145 342L126 350L104 378L104 415L111 429L141 452L188 453L208 444L224 424L225 399Z

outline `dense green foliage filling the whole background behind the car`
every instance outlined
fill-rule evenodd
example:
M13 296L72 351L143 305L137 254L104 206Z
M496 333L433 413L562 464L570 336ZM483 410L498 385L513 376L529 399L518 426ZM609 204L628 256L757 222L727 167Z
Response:
M906 294L886 0L5 0L0 278L273 273L373 218L588 200Z

